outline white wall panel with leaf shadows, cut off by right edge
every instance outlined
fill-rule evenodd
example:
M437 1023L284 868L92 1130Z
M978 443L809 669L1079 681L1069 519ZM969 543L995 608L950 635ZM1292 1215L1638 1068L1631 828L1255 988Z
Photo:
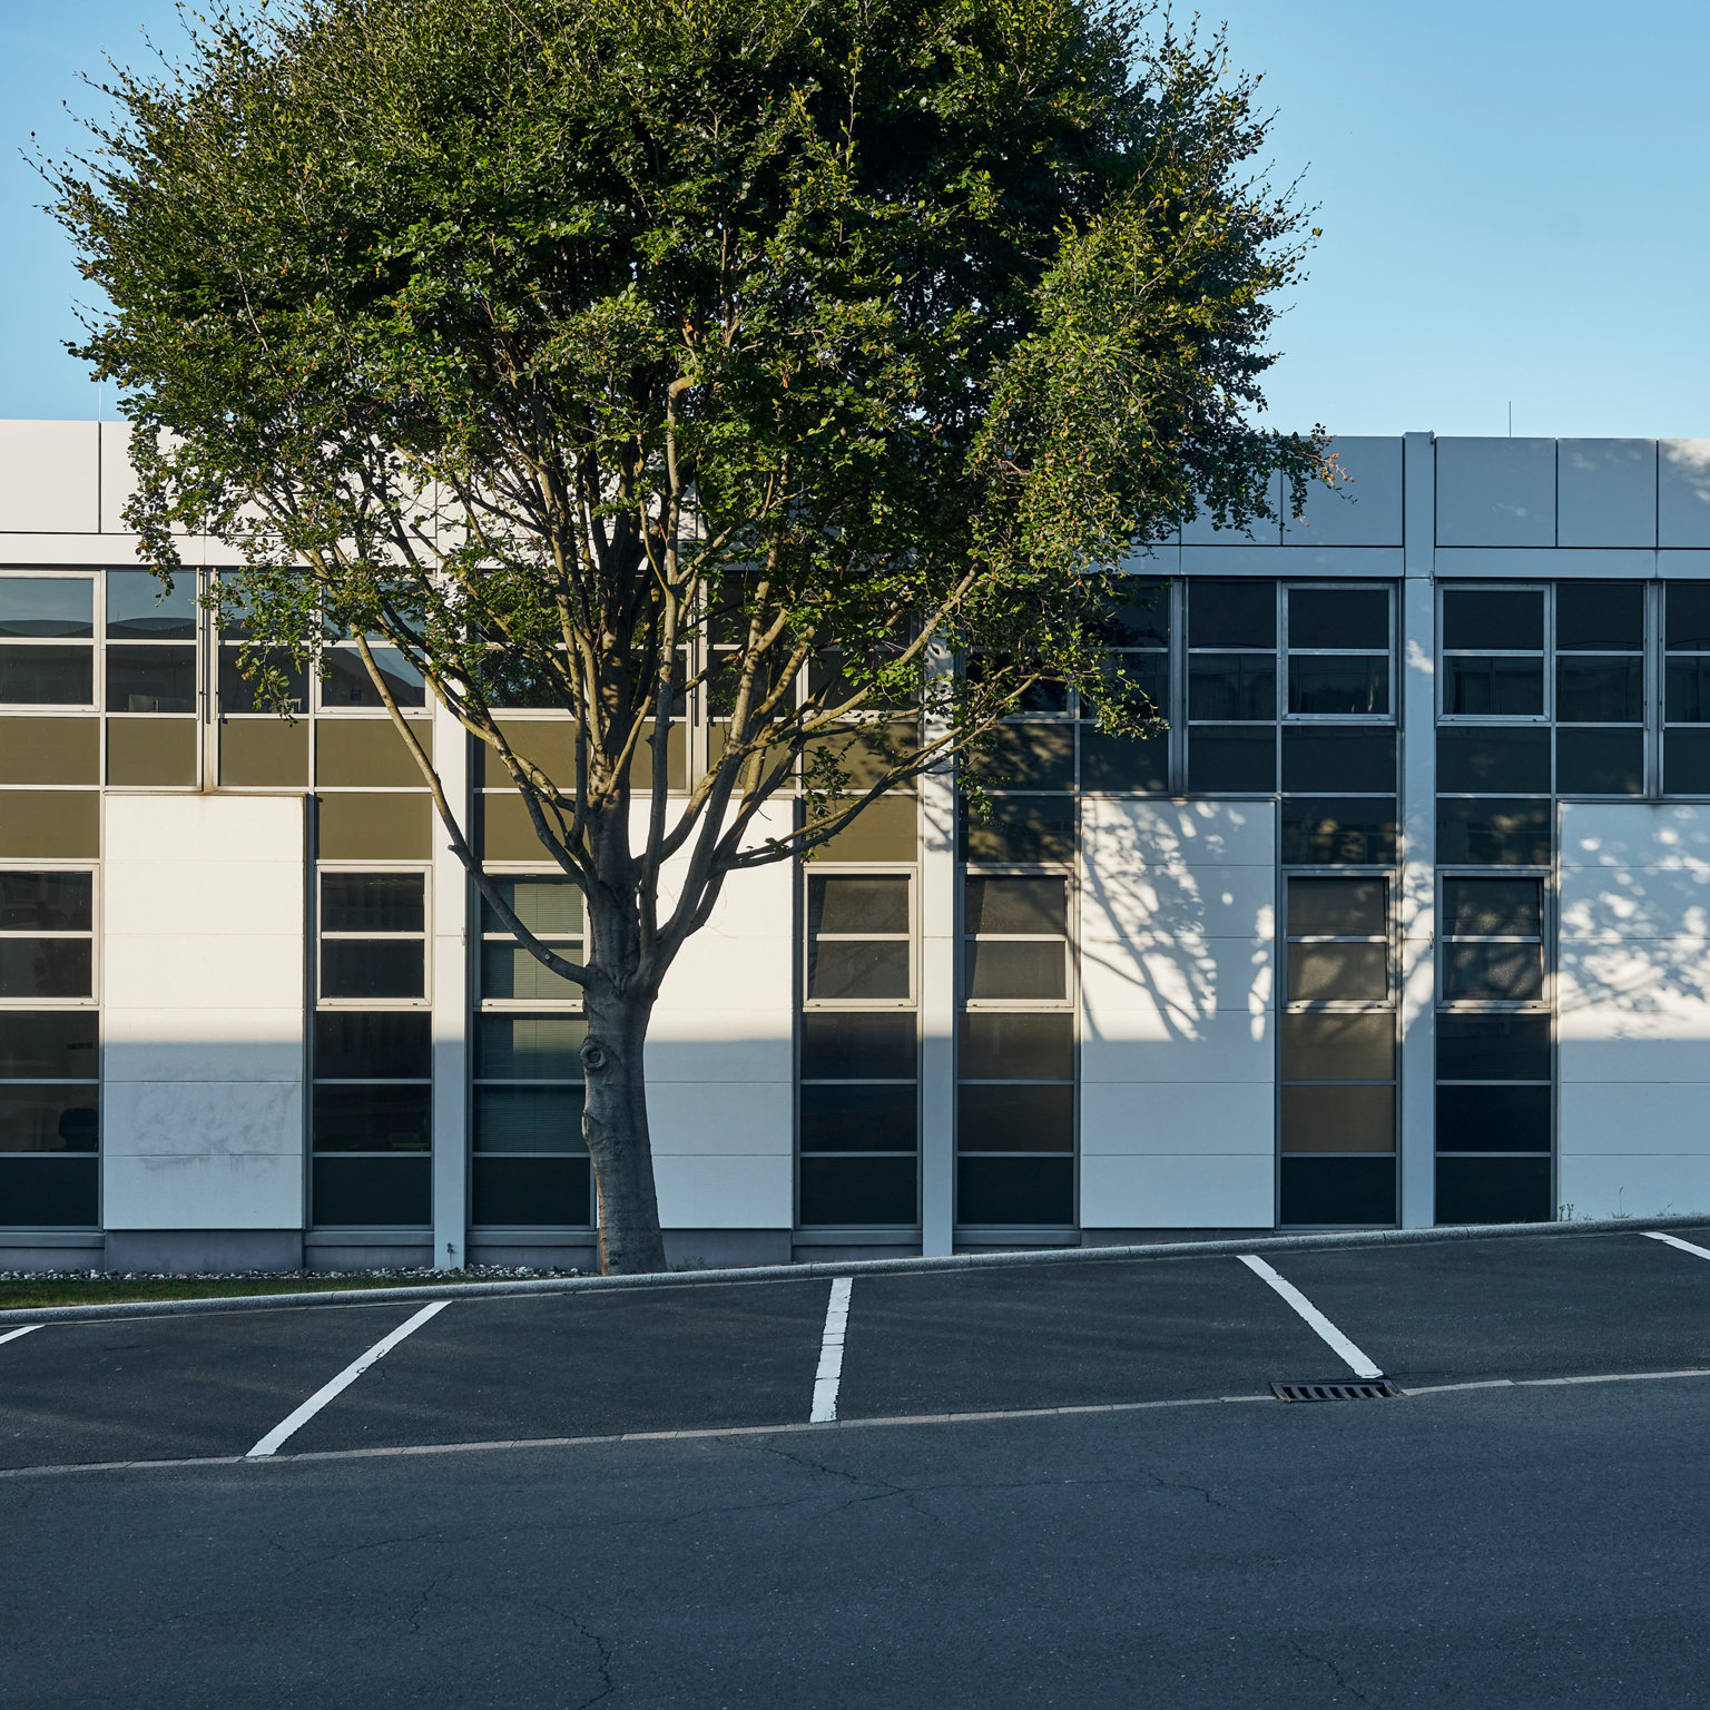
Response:
M1710 1206L1710 811L1561 809L1558 1199Z

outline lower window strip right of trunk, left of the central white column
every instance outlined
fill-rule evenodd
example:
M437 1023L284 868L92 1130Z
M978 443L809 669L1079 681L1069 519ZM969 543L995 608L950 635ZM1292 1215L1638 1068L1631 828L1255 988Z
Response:
M913 876L814 872L799 1079L804 1228L920 1221Z

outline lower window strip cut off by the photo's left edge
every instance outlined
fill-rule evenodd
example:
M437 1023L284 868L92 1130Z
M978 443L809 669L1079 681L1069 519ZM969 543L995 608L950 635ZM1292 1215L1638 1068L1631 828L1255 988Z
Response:
M0 869L0 1226L96 1228L94 874Z

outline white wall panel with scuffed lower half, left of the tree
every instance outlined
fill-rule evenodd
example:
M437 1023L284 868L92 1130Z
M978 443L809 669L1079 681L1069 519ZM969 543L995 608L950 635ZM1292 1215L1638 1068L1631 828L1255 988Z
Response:
M303 1226L303 800L113 795L104 1223Z

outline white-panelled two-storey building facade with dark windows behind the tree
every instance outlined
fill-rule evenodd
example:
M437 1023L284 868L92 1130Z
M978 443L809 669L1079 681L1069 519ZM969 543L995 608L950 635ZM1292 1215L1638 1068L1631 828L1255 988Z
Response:
M650 1045L674 1262L1710 1211L1710 441L1336 450L1301 522L1135 559L1168 735L1041 698L988 819L934 776L728 886ZM0 424L0 1267L590 1264L575 992L356 653L256 711L219 551L157 598L128 479Z

